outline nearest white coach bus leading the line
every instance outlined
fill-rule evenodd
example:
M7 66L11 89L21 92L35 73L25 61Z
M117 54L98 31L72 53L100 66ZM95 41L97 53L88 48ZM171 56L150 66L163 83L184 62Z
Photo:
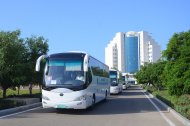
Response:
M109 67L84 52L42 55L45 59L42 105L44 108L86 109L109 95Z

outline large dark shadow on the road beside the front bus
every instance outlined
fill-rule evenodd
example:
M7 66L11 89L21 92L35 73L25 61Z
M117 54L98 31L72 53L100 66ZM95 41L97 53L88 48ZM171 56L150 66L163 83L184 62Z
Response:
M61 110L58 114L77 114L77 115L114 115L130 113L154 112L156 109L146 98L135 99L109 99L106 103L99 103L91 111L89 110Z

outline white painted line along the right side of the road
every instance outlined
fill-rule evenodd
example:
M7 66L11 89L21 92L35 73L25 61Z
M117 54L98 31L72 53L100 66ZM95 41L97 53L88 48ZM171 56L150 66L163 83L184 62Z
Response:
M175 126L175 124L170 120L168 119L165 114L160 110L160 108L151 100L151 98L146 95L142 90L141 92L146 96L146 98L148 98L148 100L152 103L152 105L156 108L156 110L160 113L160 115L164 118L164 120L166 120L166 122L170 125L170 126Z

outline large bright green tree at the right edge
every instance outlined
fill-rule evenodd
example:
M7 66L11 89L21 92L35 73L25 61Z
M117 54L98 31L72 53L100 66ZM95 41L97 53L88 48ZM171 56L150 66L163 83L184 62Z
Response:
M164 83L172 95L190 93L190 30L175 33L163 52L167 63Z

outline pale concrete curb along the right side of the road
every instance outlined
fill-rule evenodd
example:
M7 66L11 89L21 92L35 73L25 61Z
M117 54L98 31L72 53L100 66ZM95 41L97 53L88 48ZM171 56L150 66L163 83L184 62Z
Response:
M167 104L165 104L163 101L161 101L157 97L153 96L148 91L145 90L145 92L147 92L151 98L154 98L157 102L159 102L162 106L164 106L168 110L168 112L172 113L172 115L174 115L174 117L177 118L180 122L182 122L185 126L190 126L190 120L188 120L187 118L183 117L181 114L179 114L178 112L176 112L174 109L172 109L170 106L168 106Z

